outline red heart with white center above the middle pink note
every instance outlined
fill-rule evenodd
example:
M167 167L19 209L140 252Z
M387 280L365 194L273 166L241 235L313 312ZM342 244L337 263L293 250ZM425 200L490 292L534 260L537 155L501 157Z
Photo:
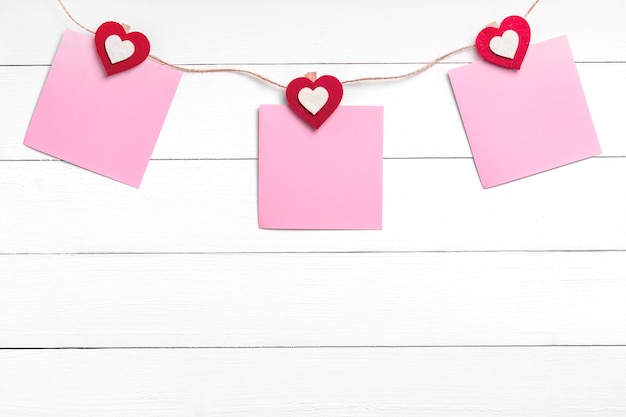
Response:
M289 83L285 94L291 110L308 125L318 129L341 103L343 87L331 75L324 75L315 81L300 77Z

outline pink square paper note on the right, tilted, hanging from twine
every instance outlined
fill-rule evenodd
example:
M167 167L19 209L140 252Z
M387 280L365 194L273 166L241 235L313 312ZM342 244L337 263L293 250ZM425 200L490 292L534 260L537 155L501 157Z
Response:
M567 37L531 45L519 71L481 60L449 76L484 188L601 153Z

